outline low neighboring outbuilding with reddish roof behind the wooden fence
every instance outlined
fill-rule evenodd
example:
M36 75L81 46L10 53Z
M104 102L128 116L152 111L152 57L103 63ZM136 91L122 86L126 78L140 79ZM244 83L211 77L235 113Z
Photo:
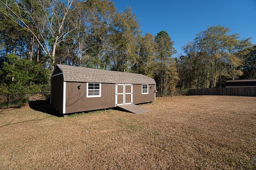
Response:
M256 79L250 80L228 80L226 81L226 88L232 87L256 87Z

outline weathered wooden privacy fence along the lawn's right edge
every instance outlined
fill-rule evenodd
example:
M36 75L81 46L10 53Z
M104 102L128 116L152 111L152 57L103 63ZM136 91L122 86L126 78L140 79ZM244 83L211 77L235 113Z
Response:
M231 87L211 89L190 89L188 95L226 95L256 97L256 87Z

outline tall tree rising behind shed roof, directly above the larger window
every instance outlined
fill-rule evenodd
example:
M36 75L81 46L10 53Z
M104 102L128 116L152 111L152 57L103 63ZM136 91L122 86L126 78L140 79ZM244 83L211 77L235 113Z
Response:
M106 53L110 50L109 35L114 27L116 7L112 1L108 0L88 0L82 2L82 7L85 14L83 26L86 32L84 33L90 45L87 53L91 56L87 67L106 69L108 66Z

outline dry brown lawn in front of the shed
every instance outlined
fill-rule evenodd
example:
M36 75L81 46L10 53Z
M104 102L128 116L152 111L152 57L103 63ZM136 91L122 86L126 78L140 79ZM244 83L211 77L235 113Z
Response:
M150 113L0 110L0 169L256 169L256 97L158 97ZM33 108L33 109L32 109Z

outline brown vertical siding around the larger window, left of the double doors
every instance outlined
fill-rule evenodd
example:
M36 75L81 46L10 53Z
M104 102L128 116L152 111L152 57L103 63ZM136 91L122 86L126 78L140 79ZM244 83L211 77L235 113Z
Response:
M78 85L81 89L78 90ZM101 97L86 98L86 83L66 82L66 113L115 107L115 84L101 84Z

